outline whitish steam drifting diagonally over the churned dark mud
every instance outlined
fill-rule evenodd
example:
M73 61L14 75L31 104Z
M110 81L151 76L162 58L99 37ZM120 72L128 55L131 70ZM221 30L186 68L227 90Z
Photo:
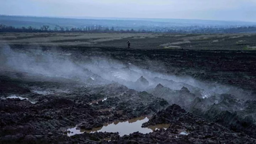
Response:
M177 77L155 73L141 69L131 63L119 62L110 58L88 57L57 50L13 50L9 46L4 46L0 50L0 65L1 71L20 72L23 77L35 80L42 78L68 79L87 86L118 82L137 91L148 90L161 83L171 90L180 90L185 86L192 93L200 92L202 98L224 93L232 94L238 98L250 96L250 93L236 87L214 82L201 82L189 76ZM148 80L149 84L139 83L137 80L140 76Z

